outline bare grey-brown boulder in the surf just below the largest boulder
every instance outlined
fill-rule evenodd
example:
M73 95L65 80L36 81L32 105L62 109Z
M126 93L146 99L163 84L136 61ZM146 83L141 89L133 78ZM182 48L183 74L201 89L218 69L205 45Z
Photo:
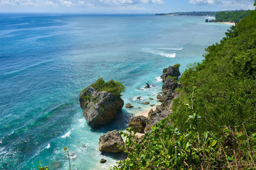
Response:
M124 140L118 131L111 131L100 137L99 151L117 153L122 152L119 148L124 148Z

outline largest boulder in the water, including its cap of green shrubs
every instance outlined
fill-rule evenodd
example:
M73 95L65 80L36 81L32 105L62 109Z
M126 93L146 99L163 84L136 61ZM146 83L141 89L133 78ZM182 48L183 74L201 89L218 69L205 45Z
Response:
M87 124L101 127L111 122L124 106L120 95L124 89L121 83L113 80L105 82L102 78L84 89L79 101Z

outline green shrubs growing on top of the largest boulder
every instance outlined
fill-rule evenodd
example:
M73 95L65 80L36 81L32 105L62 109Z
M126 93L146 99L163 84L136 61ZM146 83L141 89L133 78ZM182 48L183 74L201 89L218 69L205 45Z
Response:
M95 83L93 83L89 87L93 87L95 90L99 92L110 92L113 94L113 96L121 96L121 93L125 91L125 87L124 85L122 85L122 83L119 83L118 81L114 80L109 80L108 82L105 82L103 78L99 78ZM88 89L88 87L86 87L86 89Z

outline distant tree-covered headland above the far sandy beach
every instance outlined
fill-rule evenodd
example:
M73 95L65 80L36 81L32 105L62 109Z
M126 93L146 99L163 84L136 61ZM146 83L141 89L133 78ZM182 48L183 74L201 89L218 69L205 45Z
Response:
M250 10L247 11L221 11L215 16L216 22L239 22L242 18L250 15Z

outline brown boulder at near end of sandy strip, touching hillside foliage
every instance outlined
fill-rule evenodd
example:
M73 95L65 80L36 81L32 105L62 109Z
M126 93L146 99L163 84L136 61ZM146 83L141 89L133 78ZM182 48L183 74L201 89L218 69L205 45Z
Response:
M131 121L129 122L129 127L132 127L133 130L144 133L145 132L145 126L147 125L148 118L144 116L138 116L131 118Z

